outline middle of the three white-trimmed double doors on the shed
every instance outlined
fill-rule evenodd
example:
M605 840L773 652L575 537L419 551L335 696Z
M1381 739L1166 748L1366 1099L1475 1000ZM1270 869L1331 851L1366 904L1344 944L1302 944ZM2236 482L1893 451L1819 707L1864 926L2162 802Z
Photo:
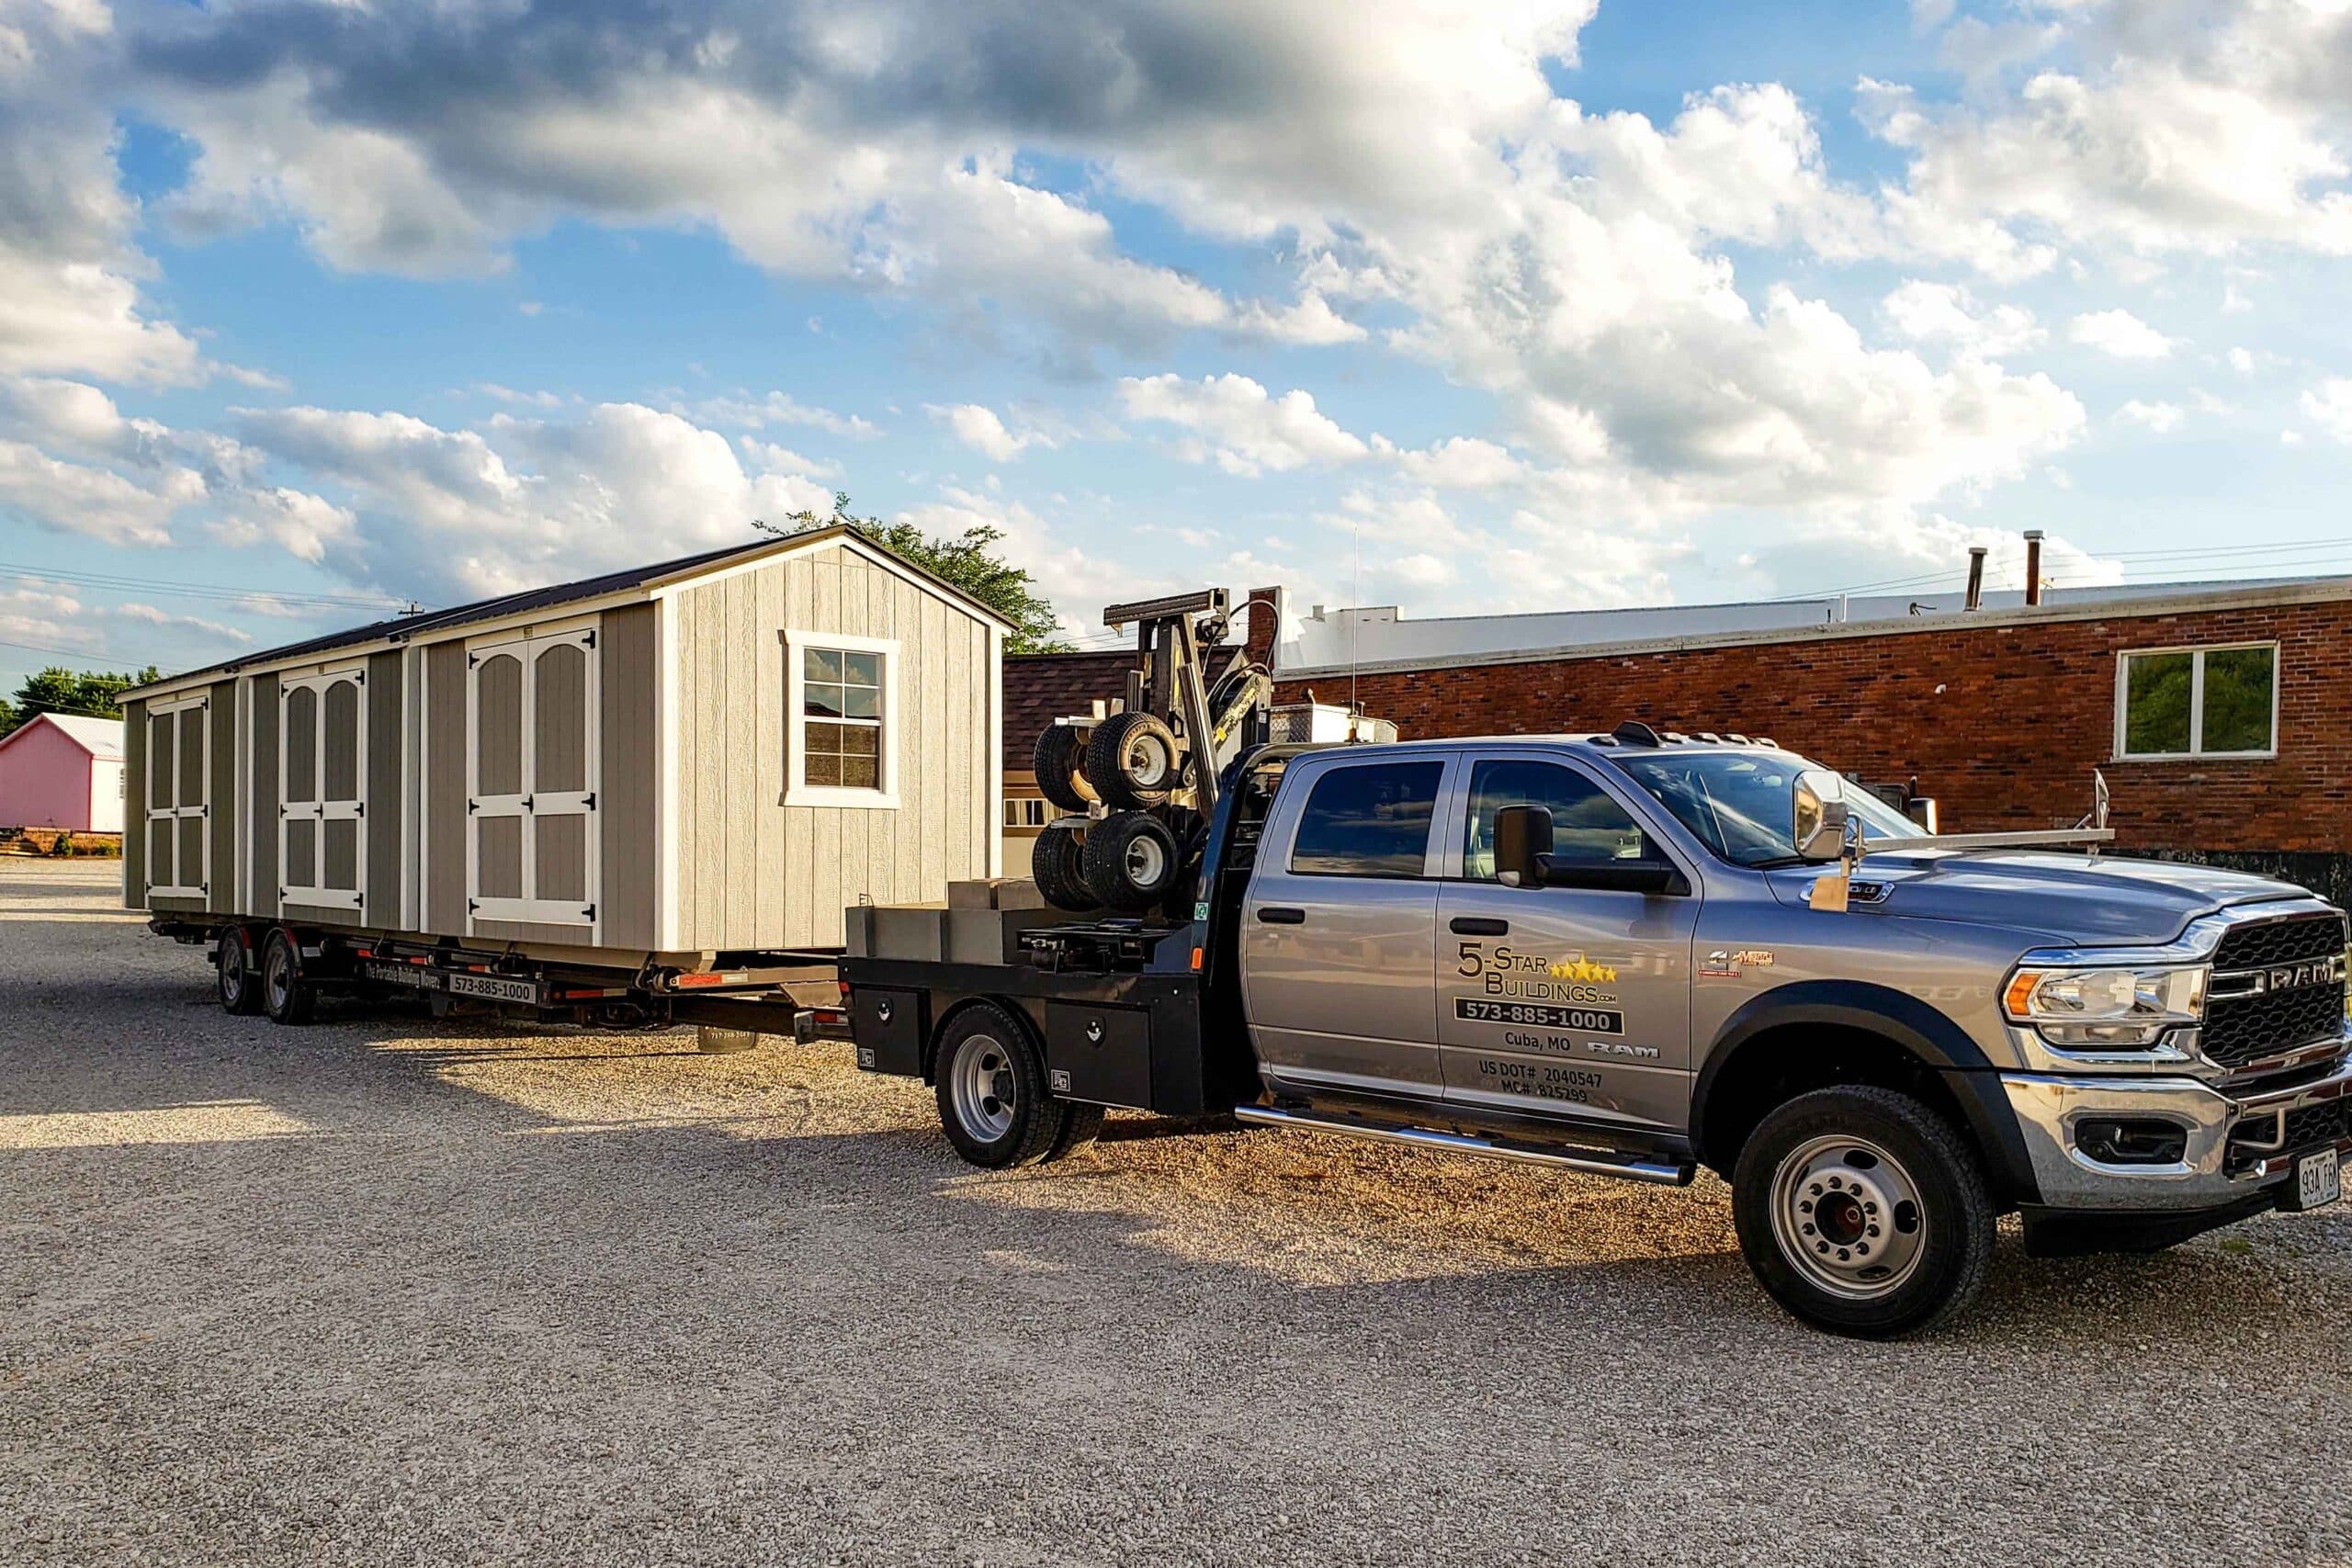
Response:
M367 670L278 686L278 903L367 914Z

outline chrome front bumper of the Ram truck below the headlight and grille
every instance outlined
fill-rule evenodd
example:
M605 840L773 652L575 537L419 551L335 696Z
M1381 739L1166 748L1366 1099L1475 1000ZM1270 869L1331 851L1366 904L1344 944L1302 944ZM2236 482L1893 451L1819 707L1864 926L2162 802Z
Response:
M2321 1147L2352 1152L2352 1126L2328 1107L2352 1110L2352 1058L2326 1077L2237 1098L2187 1077L2070 1077L2004 1072L2034 1185L2051 1208L2192 1213L2258 1197L2293 1173L2293 1159ZM2300 1117L2296 1112L2303 1112ZM2296 1140L2291 1128L2324 1117L2331 1133ZM2110 1164L2077 1143L2084 1121L2166 1121L2183 1128L2173 1164Z

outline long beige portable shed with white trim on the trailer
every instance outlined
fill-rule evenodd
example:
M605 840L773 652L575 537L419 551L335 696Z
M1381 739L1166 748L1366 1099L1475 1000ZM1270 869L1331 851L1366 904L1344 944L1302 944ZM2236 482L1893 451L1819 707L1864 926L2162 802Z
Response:
M849 527L400 616L122 701L125 903L612 969L1000 872L1009 623Z

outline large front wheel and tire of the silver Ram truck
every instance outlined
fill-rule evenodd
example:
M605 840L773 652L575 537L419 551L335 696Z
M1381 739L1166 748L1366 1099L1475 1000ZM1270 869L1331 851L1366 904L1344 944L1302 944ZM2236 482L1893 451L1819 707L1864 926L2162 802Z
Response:
M1976 1298L1999 1215L1959 1128L1907 1093L1842 1086L1764 1117L1731 1173L1731 1218L1788 1312L1893 1340Z

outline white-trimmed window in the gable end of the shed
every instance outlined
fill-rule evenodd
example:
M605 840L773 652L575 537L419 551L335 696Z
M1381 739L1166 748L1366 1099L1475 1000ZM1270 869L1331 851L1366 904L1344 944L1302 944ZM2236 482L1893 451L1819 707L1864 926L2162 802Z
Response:
M898 804L898 644L783 632L786 806Z

